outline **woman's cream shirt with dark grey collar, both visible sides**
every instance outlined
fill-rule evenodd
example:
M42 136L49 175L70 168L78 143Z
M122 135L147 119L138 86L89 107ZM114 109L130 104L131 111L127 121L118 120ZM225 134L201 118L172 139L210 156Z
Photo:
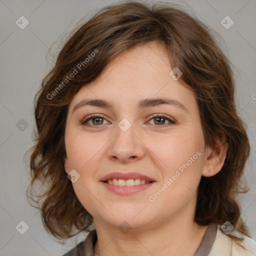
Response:
M240 247L234 239L222 232L219 224L211 222L194 256L256 256L255 240L235 230L230 233L244 237L241 244L245 249ZM83 241L62 256L94 256L93 247L96 240L96 230L93 229Z

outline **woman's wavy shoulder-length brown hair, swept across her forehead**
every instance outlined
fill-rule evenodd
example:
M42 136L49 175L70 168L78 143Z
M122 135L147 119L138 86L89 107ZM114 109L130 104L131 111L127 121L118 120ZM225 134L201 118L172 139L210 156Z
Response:
M29 149L31 181L27 190L30 188L31 192L35 181L43 188L47 185L43 193L36 195L44 197L42 204L32 206L40 209L44 227L58 239L88 231L92 223L92 216L76 197L63 167L68 105L74 94L96 79L118 53L153 40L164 46L171 67L182 71L179 81L194 92L205 145L215 148L220 132L228 141L222 169L213 176L201 177L194 221L199 225L212 221L222 225L228 220L236 230L249 236L237 198L238 193L248 191L241 181L249 141L234 104L231 63L213 31L181 9L166 2L148 6L126 1L106 6L70 34L55 66L43 78L34 98L37 133ZM86 56L89 61L85 61ZM82 68L78 70L77 66ZM66 81L74 68L78 72ZM27 196L39 204L39 200Z

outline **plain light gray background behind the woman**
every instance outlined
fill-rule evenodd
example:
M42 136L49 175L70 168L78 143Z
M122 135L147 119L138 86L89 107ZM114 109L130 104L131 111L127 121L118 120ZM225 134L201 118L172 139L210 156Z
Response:
M23 154L32 145L33 97L41 79L53 67L58 50L55 41L65 38L82 17L86 20L94 10L113 2L0 0L0 255L62 255L86 236L79 234L61 245L44 230L38 210L28 204L25 195L28 167ZM245 171L251 189L241 196L242 217L256 239L256 1L171 2L185 8L189 4L197 17L222 37L222 49L235 67L237 110L247 125L251 143ZM22 15L29 21L24 29L15 24ZM220 23L226 15L234 21L229 29ZM51 54L47 53L49 47ZM20 126L26 122L27 127ZM15 229L21 220L29 226L24 234Z

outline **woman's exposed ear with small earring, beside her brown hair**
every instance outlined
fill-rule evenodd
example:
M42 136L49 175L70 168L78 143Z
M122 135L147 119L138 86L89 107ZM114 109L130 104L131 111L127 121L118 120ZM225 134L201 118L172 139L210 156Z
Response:
M214 148L207 148L205 162L202 169L202 176L210 177L218 173L225 161L228 142L223 132L220 132L219 137L215 141Z

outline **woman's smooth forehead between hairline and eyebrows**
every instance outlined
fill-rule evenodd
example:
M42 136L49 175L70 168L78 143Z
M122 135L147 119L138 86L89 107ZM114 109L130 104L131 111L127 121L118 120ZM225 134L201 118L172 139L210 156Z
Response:
M108 63L100 76L83 86L73 97L72 107L82 99L105 99L118 105L145 98L168 97L195 102L188 88L174 80L168 56L157 42L141 44L125 50ZM193 101L193 102L192 102ZM189 109L189 104L187 107Z

